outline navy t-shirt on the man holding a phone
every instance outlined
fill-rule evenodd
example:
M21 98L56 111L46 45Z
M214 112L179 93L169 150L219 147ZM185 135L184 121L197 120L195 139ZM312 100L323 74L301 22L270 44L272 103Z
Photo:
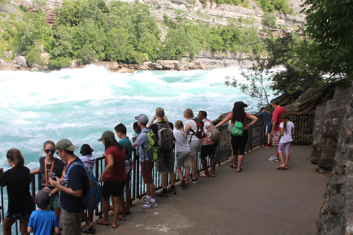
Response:
M78 157L76 157L76 159L73 160L72 163L73 162L81 162L82 163L82 161ZM66 165L67 165L67 163L65 164L64 169L66 169ZM70 166L69 166L69 168L70 168ZM67 168L67 171L69 168ZM82 189L83 193L87 192L86 170L82 166L76 165L76 166L71 167L71 169L68 171L68 174L67 174L67 171L65 172L64 177L62 178L61 185L65 186L65 187L69 187L72 190ZM67 179L67 175L68 175L68 179ZM86 207L80 197L72 196L72 195L67 194L63 191L60 191L60 206L62 209L70 211L70 212L79 212L79 211L83 211L86 209Z

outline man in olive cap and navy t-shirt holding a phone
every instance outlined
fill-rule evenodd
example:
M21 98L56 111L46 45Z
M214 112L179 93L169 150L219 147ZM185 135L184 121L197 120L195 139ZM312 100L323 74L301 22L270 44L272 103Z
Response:
M63 235L81 234L81 217L86 209L81 196L88 190L82 161L73 153L78 146L68 139L55 144L56 154L66 162L61 178L53 177L50 184L60 190L60 228ZM78 162L82 166L78 165Z

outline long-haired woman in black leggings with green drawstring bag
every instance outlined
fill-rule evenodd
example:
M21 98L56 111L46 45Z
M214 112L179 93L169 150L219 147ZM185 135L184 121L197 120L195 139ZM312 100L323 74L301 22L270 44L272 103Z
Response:
M234 136L231 135L231 146L233 150L233 163L231 163L230 167L237 168L237 172L241 172L241 163L244 160L244 149L246 146L247 139L249 137L249 126L255 124L258 120L257 117L251 115L244 111L244 108L247 107L247 104L244 104L243 101L237 101L234 103L233 111L228 114L228 116L223 119L220 123L216 125L219 127L225 123L228 123L229 120L232 120L232 130L234 128L234 124L236 122L241 122L244 126L244 134L242 136ZM246 124L247 119L251 119L251 123ZM234 155L236 154L236 155ZM238 160L238 166L237 166Z

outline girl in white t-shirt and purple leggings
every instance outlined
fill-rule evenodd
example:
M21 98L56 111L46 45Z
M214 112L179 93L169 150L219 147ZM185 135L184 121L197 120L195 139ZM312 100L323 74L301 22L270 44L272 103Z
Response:
M276 169L288 169L288 161L289 161L289 149L292 145L292 135L294 135L294 124L289 121L288 113L282 113L283 122L280 124L281 132L280 132L280 143L278 145L278 153L281 159L281 165L277 166ZM282 149L286 146L286 164L283 160Z

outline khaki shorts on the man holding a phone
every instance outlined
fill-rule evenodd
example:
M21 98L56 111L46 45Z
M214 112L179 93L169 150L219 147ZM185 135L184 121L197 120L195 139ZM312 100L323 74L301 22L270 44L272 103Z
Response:
M70 212L61 208L59 225L62 235L81 234L81 217L83 211Z

